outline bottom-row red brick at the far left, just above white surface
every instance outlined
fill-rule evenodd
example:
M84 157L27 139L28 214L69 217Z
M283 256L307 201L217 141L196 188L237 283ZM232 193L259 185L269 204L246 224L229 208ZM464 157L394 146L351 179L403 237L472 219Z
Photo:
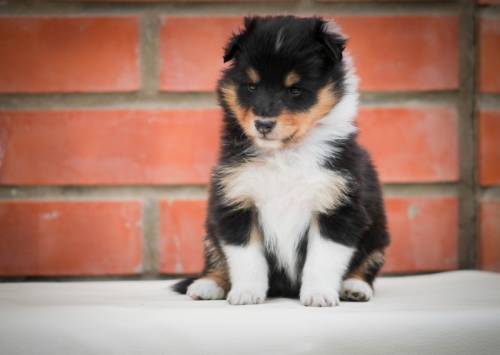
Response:
M0 275L137 273L141 215L137 202L3 201Z

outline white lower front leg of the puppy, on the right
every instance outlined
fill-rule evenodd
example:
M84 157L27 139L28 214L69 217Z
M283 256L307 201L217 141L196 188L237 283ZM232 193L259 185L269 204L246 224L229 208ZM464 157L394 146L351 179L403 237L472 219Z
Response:
M317 222L311 224L308 238L300 302L304 306L336 306L340 282L354 249L322 237Z

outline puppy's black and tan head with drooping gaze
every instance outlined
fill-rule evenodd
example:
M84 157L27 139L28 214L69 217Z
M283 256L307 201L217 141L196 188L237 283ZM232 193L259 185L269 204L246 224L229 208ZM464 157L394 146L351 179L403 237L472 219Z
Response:
M342 95L344 45L320 18L246 18L225 48L220 101L257 146L299 142Z

